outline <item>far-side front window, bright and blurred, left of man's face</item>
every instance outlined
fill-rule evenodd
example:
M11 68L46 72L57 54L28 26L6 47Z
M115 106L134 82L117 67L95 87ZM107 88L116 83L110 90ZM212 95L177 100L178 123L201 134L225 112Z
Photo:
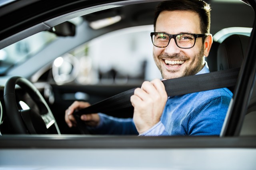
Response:
M58 84L127 84L161 78L152 57L152 25L125 28L84 43L52 65Z

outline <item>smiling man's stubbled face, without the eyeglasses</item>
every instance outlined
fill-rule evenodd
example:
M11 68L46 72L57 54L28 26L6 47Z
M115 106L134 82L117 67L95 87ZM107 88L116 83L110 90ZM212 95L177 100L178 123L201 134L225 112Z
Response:
M155 32L202 34L200 18L195 12L163 11L156 21ZM165 48L154 46L153 57L164 79L194 75L204 67L204 44L202 38L197 38L194 47L182 49L172 38Z

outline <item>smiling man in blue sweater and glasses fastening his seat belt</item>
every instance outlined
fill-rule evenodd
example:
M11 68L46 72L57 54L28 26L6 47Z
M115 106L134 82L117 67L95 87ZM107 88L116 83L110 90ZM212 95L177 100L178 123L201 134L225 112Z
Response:
M154 30L153 57L163 79L209 72L204 61L212 45L208 4L201 0L162 2L156 8ZM167 97L162 81L155 79L134 91L130 99L133 119L101 113L81 119L99 134L219 135L231 98L226 88ZM74 110L89 105L74 102L66 110L69 127L76 124Z

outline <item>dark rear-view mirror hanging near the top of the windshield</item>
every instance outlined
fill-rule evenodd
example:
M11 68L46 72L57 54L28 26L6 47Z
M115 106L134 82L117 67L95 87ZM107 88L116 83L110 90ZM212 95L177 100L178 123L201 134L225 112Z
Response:
M66 21L50 28L48 31L56 34L56 36L62 36L62 37L75 36L76 25Z

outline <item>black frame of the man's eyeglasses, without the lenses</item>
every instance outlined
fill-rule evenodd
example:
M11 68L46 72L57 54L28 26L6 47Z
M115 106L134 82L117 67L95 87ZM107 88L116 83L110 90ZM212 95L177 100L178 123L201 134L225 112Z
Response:
M165 47L167 47L167 46L169 45L171 39L173 38L173 39L174 39L174 42L176 43L176 45L177 45L179 48L183 48L183 49L189 49L189 48L194 47L194 45L196 44L196 38L208 36L207 34L190 34L190 33L167 34L167 33L164 33L164 32L151 32L151 33L150 33L151 41L152 41L152 43L153 43L154 46L156 46L156 45L154 44L154 42L153 42L153 35L154 35L154 34L166 34L167 36L169 36L169 42L168 42L168 44L167 44L166 46L160 47L160 48L165 48ZM190 34L190 35L194 36L195 41L194 41L194 44L193 44L192 47L180 47L180 46L178 45L177 40L176 40L176 37L179 36L179 35L181 35L181 34ZM158 47L158 46L156 46L156 47Z

